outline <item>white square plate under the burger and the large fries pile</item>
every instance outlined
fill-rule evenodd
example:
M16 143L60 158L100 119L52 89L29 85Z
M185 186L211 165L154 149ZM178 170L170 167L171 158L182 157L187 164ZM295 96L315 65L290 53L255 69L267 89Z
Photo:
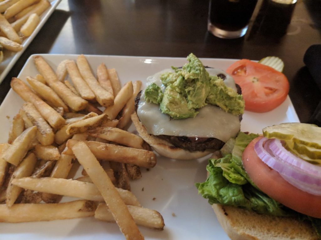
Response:
M42 55L53 69L65 59L75 60L77 55ZM86 56L96 72L104 62L108 68L116 68L121 84L141 80L143 87L147 76L169 68L182 66L185 58L126 57L126 56ZM226 69L235 60L201 59L205 66ZM19 78L38 74L32 56L22 68ZM0 106L0 142L6 142L10 123L22 99L10 90ZM268 113L245 112L241 131L261 133L265 126L284 122L299 122L298 116L288 97L281 106ZM130 128L134 131L134 127ZM207 158L195 161L175 161L158 157L153 169L142 170L143 177L132 181L132 192L142 206L159 211L165 221L163 231L140 227L146 239L229 239L219 225L211 206L197 194L196 182L206 179ZM155 200L153 200L155 198ZM30 213L32 214L32 213ZM0 233L4 239L124 239L114 223L101 222L93 217L50 222L0 223Z

